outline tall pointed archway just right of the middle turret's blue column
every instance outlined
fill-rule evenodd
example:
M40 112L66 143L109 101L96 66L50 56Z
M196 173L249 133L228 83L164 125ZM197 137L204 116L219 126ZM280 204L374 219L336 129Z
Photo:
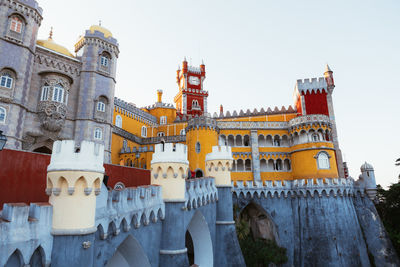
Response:
M186 248L189 264L213 266L214 257L210 230L206 219L200 211L196 211L186 231Z

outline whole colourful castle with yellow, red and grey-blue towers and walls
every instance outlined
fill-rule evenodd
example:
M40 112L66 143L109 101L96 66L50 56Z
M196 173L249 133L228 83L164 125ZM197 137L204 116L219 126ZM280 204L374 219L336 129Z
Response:
M91 26L74 55L37 40L41 20L35 0L0 0L0 131L7 149L52 154L48 203L3 206L0 265L244 266L233 205L266 220L287 266L399 264L373 167L346 173L328 65L296 82L293 107L211 115L205 64L185 59L174 105L158 90L138 108L114 97L109 30ZM150 183L107 189L103 163Z

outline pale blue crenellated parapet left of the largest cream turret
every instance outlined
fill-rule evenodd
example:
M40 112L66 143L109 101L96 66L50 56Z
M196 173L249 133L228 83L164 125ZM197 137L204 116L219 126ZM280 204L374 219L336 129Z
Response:
M21 252L29 263L34 251L41 247L46 263L50 263L53 236L51 235L52 206L49 203L7 203L0 216L0 266L15 251Z

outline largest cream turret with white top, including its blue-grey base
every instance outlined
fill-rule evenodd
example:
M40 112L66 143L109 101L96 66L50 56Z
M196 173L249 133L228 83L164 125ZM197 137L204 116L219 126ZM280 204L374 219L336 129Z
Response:
M104 146L56 141L47 168L46 193L53 205L53 266L92 266L96 195L104 176Z

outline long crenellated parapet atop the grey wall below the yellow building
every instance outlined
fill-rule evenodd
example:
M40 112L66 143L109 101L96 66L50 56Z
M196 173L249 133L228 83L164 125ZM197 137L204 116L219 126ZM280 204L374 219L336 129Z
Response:
M234 183L232 182L232 185ZM236 196L264 197L307 197L307 196L353 196L356 191L363 195L364 190L354 186L352 178L318 178L281 181L265 181L264 185L253 181L237 181L234 187Z

